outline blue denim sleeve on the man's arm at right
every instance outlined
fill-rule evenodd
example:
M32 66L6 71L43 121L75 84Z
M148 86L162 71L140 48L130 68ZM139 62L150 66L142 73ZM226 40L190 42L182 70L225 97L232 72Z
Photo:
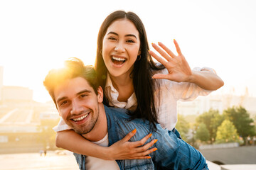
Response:
M152 137L158 140L154 145L158 150L151 154L157 169L208 169L203 155L174 132L158 125Z

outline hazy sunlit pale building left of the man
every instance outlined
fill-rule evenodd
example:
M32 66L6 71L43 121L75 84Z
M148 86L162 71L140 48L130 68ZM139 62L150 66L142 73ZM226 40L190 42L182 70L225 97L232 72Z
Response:
M51 134L47 132L54 133L48 128L51 124L41 124L44 120L57 125L59 115L54 104L32 101L28 105L28 99L18 98L18 104L8 101L8 104L0 105L0 154L38 152L54 145L54 142L48 142ZM48 131L42 133L42 130Z

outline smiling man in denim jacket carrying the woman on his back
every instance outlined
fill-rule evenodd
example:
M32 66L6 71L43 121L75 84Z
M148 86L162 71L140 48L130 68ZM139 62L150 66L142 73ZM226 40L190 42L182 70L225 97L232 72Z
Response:
M132 137L132 141L141 140L152 130L148 121L131 120L128 111L104 106L102 87L97 85L95 70L78 59L67 61L63 69L50 71L44 85L65 123L87 140L107 142L110 146L135 128L139 133ZM156 124L156 130L151 133L158 140L155 143L158 150L150 154L150 159L115 162L88 159L80 154L75 157L80 169L92 169L93 166L102 169L107 166L112 166L110 169L208 169L202 154L178 139L174 132Z

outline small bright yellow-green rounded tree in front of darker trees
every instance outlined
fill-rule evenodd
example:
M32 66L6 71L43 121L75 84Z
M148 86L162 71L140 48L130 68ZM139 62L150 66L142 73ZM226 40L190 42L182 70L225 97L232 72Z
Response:
M230 120L224 120L218 127L216 143L239 142L238 132Z

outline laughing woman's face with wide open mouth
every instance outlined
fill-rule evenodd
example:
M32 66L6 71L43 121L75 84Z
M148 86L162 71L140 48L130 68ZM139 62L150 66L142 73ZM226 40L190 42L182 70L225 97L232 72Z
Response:
M114 21L103 38L102 56L112 77L129 75L139 51L139 31L132 21Z

